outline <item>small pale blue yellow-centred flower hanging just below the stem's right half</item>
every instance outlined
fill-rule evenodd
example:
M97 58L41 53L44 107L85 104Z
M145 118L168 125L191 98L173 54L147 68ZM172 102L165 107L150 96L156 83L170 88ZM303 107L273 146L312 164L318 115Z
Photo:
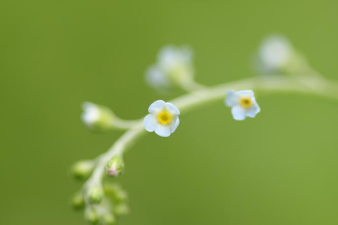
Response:
M231 107L231 114L235 120L254 118L260 112L252 90L228 91L225 104Z

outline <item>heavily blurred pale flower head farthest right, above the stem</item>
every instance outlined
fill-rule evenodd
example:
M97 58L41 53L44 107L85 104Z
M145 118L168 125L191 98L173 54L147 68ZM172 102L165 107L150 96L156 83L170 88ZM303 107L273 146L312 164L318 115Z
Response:
M274 35L263 41L258 56L265 70L279 70L289 62L292 52L292 46L285 37Z

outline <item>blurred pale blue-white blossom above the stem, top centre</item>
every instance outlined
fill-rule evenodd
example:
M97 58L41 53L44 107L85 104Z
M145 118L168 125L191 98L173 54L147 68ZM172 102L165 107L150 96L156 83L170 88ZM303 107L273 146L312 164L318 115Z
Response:
M157 63L146 72L146 82L155 88L168 88L192 77L192 52L187 47L164 47L158 54Z

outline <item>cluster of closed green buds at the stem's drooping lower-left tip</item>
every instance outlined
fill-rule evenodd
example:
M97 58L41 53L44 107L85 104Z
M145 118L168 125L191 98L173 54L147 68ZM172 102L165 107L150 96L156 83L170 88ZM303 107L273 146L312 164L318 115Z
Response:
M95 161L85 160L73 166L73 175L76 178L88 177ZM117 177L124 171L123 159L120 156L112 157L106 165L107 175ZM91 180L83 190L77 192L72 198L75 209L84 209L85 219L91 224L113 225L116 217L127 214L129 209L126 204L127 195L121 186L116 183L100 180Z

